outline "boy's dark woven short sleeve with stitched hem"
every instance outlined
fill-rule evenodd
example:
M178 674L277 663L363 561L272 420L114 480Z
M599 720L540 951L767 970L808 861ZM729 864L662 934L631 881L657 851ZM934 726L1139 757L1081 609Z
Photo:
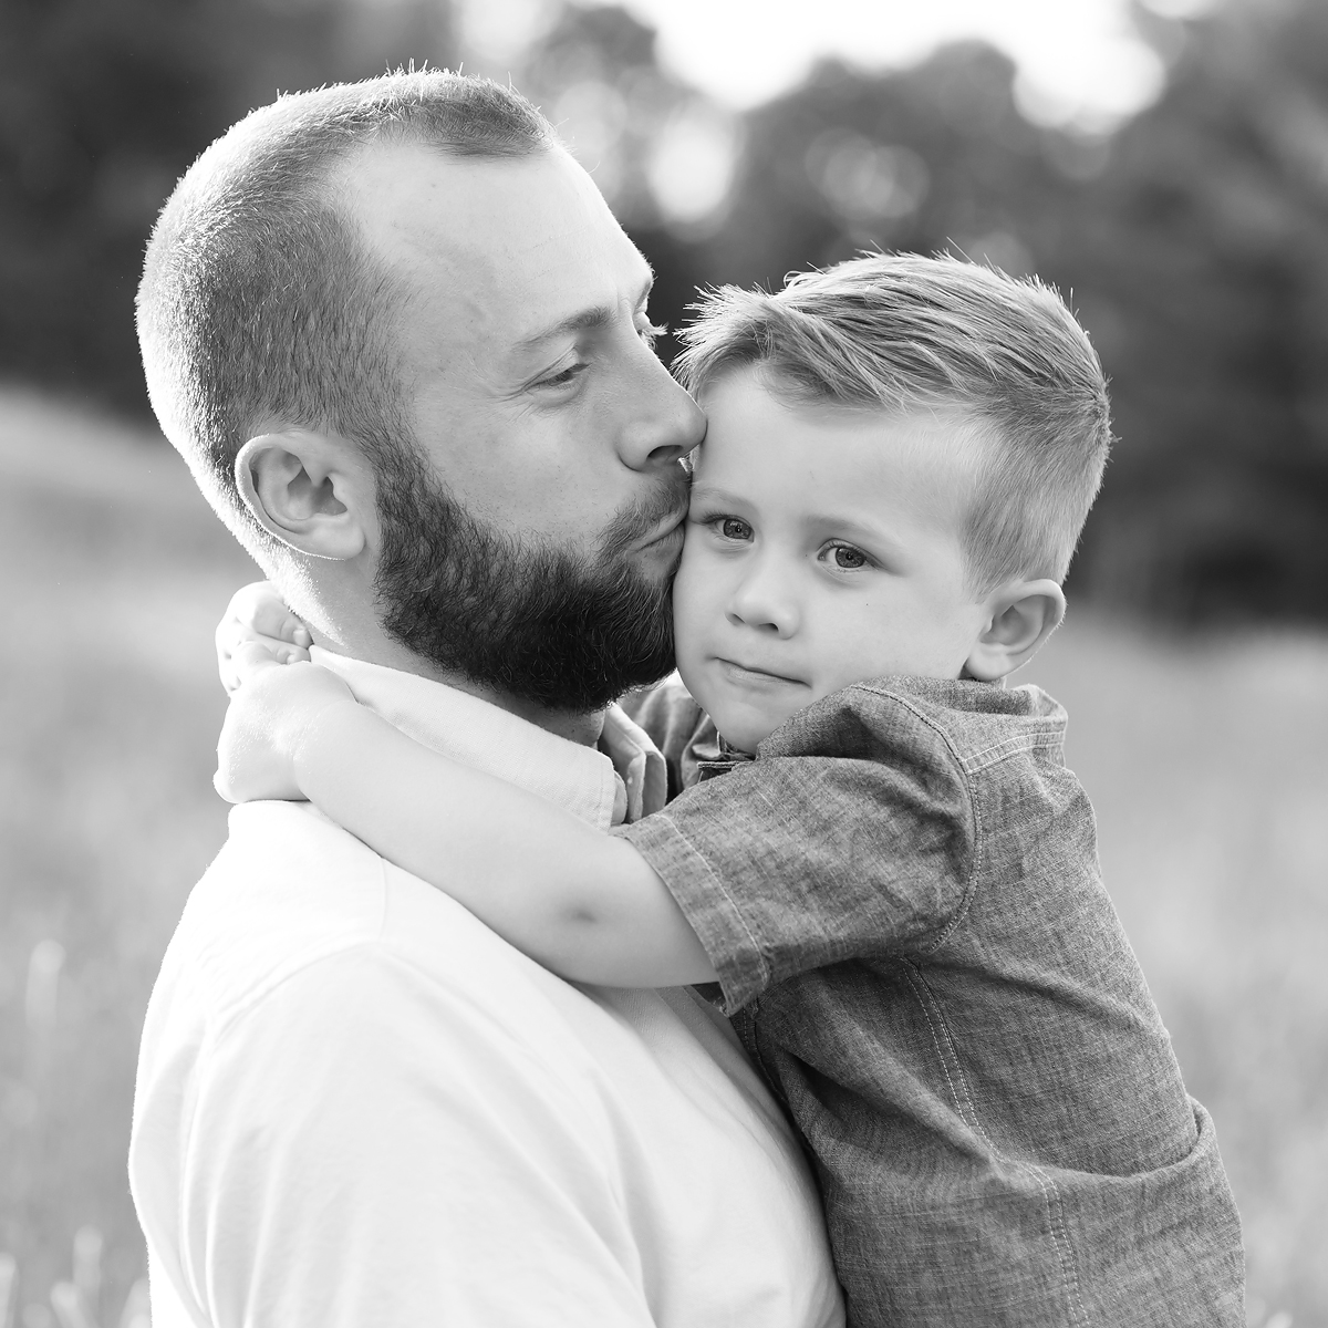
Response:
M963 907L975 825L944 733L867 688L801 710L756 761L619 831L687 915L733 1012L768 985L918 950Z

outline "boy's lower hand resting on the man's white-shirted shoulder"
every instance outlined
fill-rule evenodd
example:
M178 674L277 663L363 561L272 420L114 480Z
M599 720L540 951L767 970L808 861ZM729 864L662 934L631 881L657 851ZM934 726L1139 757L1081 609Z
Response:
M300 801L301 740L323 710L355 705L355 696L331 669L300 663L286 668L259 641L239 645L232 661L243 685L226 712L212 785L227 802Z

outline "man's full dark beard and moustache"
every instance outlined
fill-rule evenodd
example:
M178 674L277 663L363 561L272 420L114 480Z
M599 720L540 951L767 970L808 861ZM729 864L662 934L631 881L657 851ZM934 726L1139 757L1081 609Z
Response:
M672 578L647 579L627 550L685 503L683 485L620 513L588 560L494 530L413 461L377 477L388 635L441 669L579 714L672 671Z

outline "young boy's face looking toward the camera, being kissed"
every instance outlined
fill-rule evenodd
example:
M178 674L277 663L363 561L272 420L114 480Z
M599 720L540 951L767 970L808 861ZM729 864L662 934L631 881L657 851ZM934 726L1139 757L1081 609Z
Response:
M991 616L960 544L980 440L950 412L790 405L745 365L701 394L677 664L734 746L863 679L957 677Z

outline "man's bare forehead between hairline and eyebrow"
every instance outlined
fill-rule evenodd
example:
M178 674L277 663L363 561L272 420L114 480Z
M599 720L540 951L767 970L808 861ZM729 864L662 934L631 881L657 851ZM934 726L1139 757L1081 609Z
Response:
M513 340L648 278L594 182L560 149L489 159L376 143L337 183L417 309L502 319Z

